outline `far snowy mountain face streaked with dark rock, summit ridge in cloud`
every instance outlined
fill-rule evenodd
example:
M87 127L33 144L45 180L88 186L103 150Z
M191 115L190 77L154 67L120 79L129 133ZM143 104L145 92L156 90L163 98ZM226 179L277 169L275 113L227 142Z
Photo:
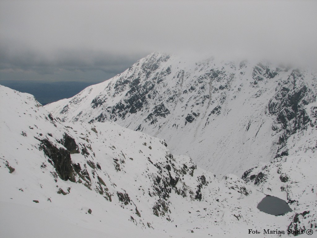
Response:
M316 101L316 85L316 72L266 62L153 53L45 108L65 122L112 121L159 136L216 175L240 176L307 125L304 107Z

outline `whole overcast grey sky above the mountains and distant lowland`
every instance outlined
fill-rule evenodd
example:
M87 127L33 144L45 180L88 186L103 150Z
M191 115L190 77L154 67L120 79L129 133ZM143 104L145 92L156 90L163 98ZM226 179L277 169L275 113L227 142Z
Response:
M102 82L153 51L317 65L317 1L3 1L0 79Z

